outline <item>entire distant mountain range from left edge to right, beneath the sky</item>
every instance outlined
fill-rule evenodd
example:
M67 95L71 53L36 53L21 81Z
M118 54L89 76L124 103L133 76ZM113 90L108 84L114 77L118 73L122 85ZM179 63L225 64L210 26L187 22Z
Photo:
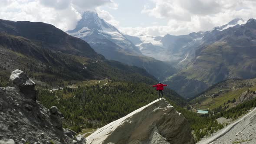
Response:
M67 79L127 79L114 75L121 75L131 69L128 65L135 65L151 75L132 67L131 73L126 73L130 75L128 79L139 72L147 82L164 80L170 88L185 98L191 98L225 79L256 76L254 19L247 22L235 19L211 31L182 36L128 36L100 19L96 13L85 12L76 28L67 32L72 36L45 23L7 20L0 20L0 31L2 57L6 59L2 61L2 69L9 69L10 72L13 67L26 65L27 71L33 69L35 72L33 77L49 81L58 73ZM11 61L8 55L17 60ZM38 60L37 63L32 62L34 59ZM103 70L108 70L108 74ZM42 72L52 75L42 75Z

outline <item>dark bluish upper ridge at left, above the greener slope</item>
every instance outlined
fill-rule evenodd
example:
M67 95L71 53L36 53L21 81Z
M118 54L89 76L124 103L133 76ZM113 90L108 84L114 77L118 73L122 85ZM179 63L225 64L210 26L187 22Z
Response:
M0 20L0 31L30 39L44 49L52 49L66 54L85 56L91 59L103 58L85 41L69 36L62 30L57 29L50 24Z

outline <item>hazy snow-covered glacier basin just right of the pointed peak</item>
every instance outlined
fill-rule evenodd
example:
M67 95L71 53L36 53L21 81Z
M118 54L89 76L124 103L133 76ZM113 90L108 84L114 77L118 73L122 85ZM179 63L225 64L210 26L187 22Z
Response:
M190 33L182 36L167 34L164 37L126 35L126 37L136 43L144 55L173 63L179 68L181 62L190 56L194 57L194 50L202 44L203 33Z

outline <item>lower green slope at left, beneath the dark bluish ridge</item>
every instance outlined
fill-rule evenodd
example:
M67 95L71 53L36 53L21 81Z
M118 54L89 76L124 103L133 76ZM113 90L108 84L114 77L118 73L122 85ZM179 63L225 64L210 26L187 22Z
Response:
M51 43L48 46L52 46L53 42ZM157 79L144 69L135 66L108 61L102 56L91 59L46 49L38 41L7 33L0 33L0 56L2 86L7 84L10 73L15 69L25 71L31 78L39 80L39 84L49 86L62 86L66 81L72 80L100 80L106 77L115 81L157 82Z

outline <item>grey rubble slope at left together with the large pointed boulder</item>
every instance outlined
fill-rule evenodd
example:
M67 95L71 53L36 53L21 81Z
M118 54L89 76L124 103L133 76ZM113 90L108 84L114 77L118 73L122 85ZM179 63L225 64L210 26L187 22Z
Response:
M98 129L85 139L62 128L62 114L36 99L35 82L21 70L0 87L0 144L194 144L189 123L164 98ZM76 136L76 137L75 137Z

